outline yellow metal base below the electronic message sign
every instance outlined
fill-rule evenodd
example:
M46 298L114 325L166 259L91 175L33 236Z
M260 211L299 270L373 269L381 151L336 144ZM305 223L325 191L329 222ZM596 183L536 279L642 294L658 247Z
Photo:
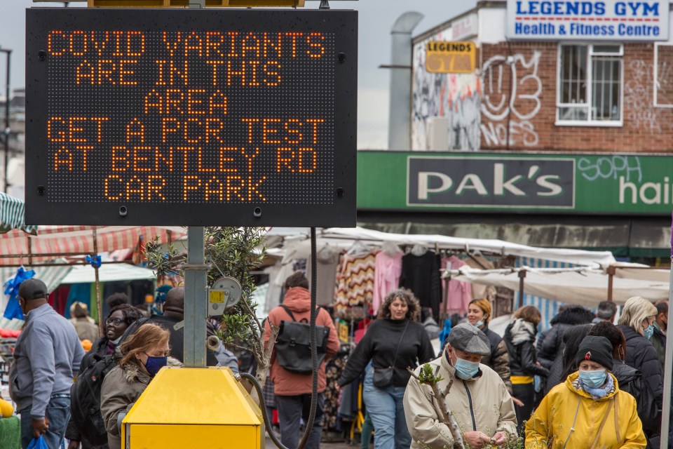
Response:
M122 422L124 449L264 449L264 423L229 368L163 368Z

